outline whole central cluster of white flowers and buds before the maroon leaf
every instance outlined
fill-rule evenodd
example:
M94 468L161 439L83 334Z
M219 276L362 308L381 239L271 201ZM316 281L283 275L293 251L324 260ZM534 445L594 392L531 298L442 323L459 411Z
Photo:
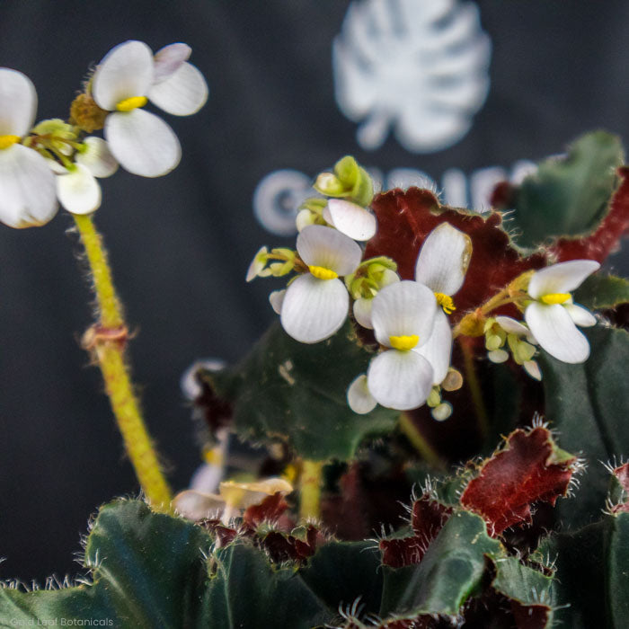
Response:
M333 173L319 175L314 189L325 196L306 199L297 213L296 250L262 247L247 280L297 273L287 288L270 295L284 330L297 341L329 338L350 313L357 325L373 331L377 351L367 373L348 388L354 412L371 412L377 404L406 411L427 403L435 419L445 420L452 407L441 393L463 383L451 356L453 339L466 332L462 325L452 326L449 315L465 283L472 240L441 222L421 244L412 280L400 279L390 258L363 260L359 243L377 233L368 208L373 186L367 180L368 173L351 157L337 163ZM488 358L503 362L510 354L536 379L542 377L536 346L563 362L586 360L589 343L575 324L593 325L596 319L573 303L571 291L598 267L596 261L577 260L524 273L487 308L466 314L481 323ZM524 321L490 315L503 306L518 308Z

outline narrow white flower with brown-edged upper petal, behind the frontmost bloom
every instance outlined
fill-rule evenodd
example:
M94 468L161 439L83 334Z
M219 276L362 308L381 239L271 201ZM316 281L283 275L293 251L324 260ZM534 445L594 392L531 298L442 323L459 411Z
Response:
M463 286L471 255L470 237L449 223L441 223L421 245L415 263L415 280L430 288L441 306L430 339L418 350L432 365L434 385L441 384L450 367L452 331L446 313L455 309L452 296Z

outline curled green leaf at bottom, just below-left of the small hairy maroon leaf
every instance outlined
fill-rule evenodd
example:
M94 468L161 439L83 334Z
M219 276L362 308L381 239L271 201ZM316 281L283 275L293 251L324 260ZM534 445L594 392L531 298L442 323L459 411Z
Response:
M482 518L467 511L456 512L421 563L397 570L383 568L380 616L456 616L481 582L485 554L501 554L500 542L487 535Z

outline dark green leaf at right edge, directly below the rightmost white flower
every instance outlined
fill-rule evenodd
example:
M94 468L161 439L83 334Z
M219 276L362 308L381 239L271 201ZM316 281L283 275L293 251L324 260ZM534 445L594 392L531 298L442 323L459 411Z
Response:
M557 503L572 529L589 524L605 505L608 475L600 461L626 456L629 447L629 334L603 326L582 332L591 349L586 362L568 365L543 350L539 358L546 419L561 433L562 447L588 463L574 498Z

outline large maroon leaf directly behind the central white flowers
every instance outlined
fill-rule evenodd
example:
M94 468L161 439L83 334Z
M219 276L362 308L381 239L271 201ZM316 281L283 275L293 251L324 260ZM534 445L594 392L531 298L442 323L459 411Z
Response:
M415 262L426 236L447 222L472 239L473 251L465 284L454 297L456 323L466 311L474 310L504 288L520 273L545 266L545 257L523 258L501 228L498 212L483 216L464 209L441 206L430 190L389 190L372 204L378 220L377 235L367 245L366 256L386 255L397 262L403 279L413 279Z

